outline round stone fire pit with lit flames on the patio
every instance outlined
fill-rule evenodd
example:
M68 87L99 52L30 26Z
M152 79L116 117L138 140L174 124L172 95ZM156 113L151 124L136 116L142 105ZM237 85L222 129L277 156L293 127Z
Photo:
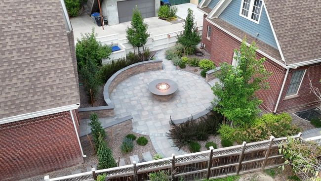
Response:
M173 98L177 88L177 84L169 79L156 79L148 85L148 90L158 101L168 101Z

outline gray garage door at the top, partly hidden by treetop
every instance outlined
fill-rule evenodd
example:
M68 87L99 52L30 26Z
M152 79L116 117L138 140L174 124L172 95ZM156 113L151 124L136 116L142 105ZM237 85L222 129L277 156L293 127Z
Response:
M135 5L144 18L155 16L155 0L124 0L118 1L119 22L131 21L131 15Z

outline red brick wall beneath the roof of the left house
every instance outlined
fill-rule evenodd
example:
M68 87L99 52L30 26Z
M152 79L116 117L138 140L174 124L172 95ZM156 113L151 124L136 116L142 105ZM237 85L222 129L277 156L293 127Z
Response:
M14 181L83 162L69 111L0 125L0 180Z

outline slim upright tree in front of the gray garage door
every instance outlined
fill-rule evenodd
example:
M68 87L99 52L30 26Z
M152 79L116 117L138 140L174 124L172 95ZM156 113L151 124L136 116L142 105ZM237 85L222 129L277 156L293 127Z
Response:
M144 22L142 15L140 14L140 11L138 10L138 7L133 9L133 15L130 22L130 27L126 28L126 38L130 45L134 47L134 53L135 53L135 47L144 47L147 43L147 39L150 36L149 33L147 33L148 24ZM139 51L140 52L140 51Z

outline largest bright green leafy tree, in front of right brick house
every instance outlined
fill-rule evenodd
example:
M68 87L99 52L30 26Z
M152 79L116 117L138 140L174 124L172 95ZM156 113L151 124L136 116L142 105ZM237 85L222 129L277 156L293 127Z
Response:
M237 126L246 127L255 120L262 102L255 96L255 91L269 88L266 80L271 73L263 66L265 58L256 59L256 50L254 42L247 46L244 39L240 50L234 50L237 66L220 64L221 73L217 78L221 84L216 83L212 88L217 96L214 110Z

